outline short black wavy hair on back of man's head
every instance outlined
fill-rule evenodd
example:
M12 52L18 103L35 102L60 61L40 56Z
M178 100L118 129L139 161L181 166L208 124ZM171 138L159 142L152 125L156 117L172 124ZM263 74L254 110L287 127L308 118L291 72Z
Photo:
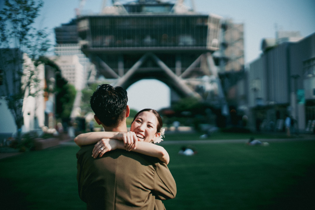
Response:
M107 127L116 127L125 117L128 96L122 87L108 84L97 86L90 98L91 108Z

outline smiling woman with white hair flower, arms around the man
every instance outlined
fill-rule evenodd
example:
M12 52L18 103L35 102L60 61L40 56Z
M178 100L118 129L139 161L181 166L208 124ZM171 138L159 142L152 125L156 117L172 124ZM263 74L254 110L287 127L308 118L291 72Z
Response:
M92 157L102 157L105 152L115 149L126 149L157 157L164 163L169 163L169 154L162 146L152 143L163 141L163 122L160 114L154 109L143 109L135 115L130 132L91 132L78 135L74 141L78 146L96 143ZM130 147L130 142L138 141L136 147ZM129 143L127 143L129 142Z

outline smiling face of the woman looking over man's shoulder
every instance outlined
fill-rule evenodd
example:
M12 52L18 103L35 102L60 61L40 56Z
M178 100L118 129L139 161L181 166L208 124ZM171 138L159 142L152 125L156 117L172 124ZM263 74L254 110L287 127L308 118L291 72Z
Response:
M157 137L157 118L151 112L141 112L131 124L130 131L135 132L139 141L150 142Z

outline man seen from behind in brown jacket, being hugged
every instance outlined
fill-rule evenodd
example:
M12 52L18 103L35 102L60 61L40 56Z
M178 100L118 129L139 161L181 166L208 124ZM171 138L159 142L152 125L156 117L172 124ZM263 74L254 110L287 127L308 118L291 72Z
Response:
M95 120L105 131L127 131L127 92L122 87L97 87L90 103ZM77 181L87 209L164 209L161 200L174 198L175 180L157 158L126 150L93 158L94 145L77 152Z

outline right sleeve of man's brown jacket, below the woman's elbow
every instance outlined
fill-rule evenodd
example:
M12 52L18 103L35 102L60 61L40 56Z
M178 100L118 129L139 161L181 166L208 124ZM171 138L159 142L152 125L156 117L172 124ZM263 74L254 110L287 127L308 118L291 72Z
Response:
M154 175L154 192L157 199L167 200L175 198L176 183L165 163L157 163Z

